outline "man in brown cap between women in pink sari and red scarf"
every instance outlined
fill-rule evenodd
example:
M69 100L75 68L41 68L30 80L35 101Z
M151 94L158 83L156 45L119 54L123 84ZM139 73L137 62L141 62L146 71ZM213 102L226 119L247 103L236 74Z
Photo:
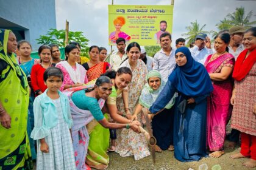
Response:
M246 29L244 29L243 26L233 26L229 29L229 53L235 56L235 60L238 57L238 55L244 50L242 39L245 31Z

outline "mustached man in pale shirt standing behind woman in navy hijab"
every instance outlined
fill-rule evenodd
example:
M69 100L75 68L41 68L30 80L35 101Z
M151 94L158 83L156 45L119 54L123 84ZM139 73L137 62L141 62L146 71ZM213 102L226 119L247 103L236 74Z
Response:
M158 70L162 78L167 80L176 65L175 50L171 47L171 34L163 33L160 36L160 44L162 49L153 58L153 70Z

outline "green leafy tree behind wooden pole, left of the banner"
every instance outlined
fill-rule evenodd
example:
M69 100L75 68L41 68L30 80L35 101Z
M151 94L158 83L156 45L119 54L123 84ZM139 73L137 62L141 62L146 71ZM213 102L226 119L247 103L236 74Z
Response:
M76 41L81 46L81 56L88 56L88 39L82 35L83 32L68 32L68 42ZM65 47L65 30L50 29L46 35L40 35L36 39L37 44L57 44L59 47Z

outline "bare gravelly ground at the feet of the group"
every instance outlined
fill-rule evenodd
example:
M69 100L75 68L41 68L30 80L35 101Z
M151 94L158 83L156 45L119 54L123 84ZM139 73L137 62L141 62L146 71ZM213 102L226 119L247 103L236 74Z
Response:
M227 143L227 142L226 142ZM182 163L174 158L174 152L172 151L163 151L162 153L156 153L156 163L153 165L152 156L143 158L141 160L135 161L131 157L120 157L119 154L115 152L110 152L110 164L107 169L180 169L185 170L188 168L193 168L197 170L200 165L206 163L208 169L212 169L213 165L220 165L222 170L242 170L242 169L251 169L246 168L242 165L243 161L246 161L247 158L240 158L232 160L230 155L236 154L240 151L240 148L237 146L235 149L225 149L225 154L220 158L202 158L200 161L192 161L188 163ZM256 169L256 168L255 168Z

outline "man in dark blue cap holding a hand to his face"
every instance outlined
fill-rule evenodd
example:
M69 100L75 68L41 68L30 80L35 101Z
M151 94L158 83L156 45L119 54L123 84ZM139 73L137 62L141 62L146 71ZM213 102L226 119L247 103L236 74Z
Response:
M194 47L190 49L191 55L194 60L204 64L207 56L213 53L211 40L205 33L199 33L194 44Z

